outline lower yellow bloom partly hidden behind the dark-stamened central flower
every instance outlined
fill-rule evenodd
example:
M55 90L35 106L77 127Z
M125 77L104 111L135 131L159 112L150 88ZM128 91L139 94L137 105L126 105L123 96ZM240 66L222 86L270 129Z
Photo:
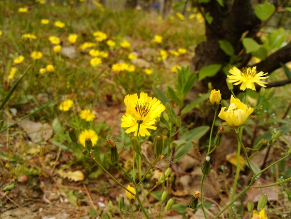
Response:
M129 134L134 132L134 136L137 136L137 129L138 129L138 122L135 118L133 118L129 113L125 113L121 118L121 127L122 128L128 128L125 133ZM156 123L156 119L152 119L149 121L143 121L142 124L140 124L140 129L138 136L149 136L150 133L147 131L147 129L153 129L157 130L157 127L153 126Z

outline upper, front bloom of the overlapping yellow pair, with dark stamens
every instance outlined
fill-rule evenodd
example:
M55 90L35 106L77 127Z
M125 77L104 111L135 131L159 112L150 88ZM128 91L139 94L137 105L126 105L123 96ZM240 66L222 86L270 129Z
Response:
M137 94L128 94L124 98L126 112L136 120L145 122L155 119L166 109L157 98L152 99L146 93L141 92L138 98Z

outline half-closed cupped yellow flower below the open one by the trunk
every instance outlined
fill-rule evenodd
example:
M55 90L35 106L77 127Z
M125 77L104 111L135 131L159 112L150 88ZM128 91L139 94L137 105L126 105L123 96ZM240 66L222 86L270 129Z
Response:
M247 108L247 105L231 95L228 109L226 110L226 107L222 107L218 117L226 120L227 125L237 128L243 125L253 111L253 107ZM237 131L238 129L235 130Z

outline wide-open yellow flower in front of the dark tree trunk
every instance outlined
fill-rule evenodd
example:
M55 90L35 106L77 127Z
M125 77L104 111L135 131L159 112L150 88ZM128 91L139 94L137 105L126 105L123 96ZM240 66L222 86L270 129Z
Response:
M262 87L266 87L264 84L268 83L262 82L261 80L269 78L269 76L262 77L268 73L264 73L262 71L257 73L256 69L257 67L244 67L242 70L239 70L237 67L233 67L229 70L229 73L232 75L227 75L227 78L229 79L228 82L234 83L234 85L241 84L241 90L245 90L245 88L256 90L254 83L257 83Z

